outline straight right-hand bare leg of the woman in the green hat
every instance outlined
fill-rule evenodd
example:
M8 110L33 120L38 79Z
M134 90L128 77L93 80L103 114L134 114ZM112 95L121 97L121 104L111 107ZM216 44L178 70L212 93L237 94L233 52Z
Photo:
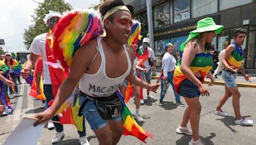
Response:
M199 137L199 121L200 121L200 112L201 112L201 104L199 102L199 98L188 98L184 97L188 104L189 108L189 121L191 125L191 129L193 132L193 140L198 141Z

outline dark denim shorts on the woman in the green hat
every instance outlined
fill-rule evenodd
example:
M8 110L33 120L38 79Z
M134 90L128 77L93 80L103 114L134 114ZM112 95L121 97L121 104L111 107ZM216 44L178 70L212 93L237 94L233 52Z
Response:
M197 79L201 81L201 78L197 78ZM189 81L189 79L185 79L180 84L179 95L187 98L195 98L200 96L200 91L199 91L199 88L194 83Z

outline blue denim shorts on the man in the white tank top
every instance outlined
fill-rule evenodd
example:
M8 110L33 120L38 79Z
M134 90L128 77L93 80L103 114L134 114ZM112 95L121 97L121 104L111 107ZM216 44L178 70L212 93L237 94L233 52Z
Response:
M84 100L88 99L87 97L79 96L79 105L81 106L84 102ZM91 126L92 130L97 130L99 128L105 127L108 125L108 121L104 120L97 110L97 107L95 106L94 102L92 100L89 100L84 108L83 108L83 115L88 121L89 125ZM121 115L119 114L115 118L113 118L111 121L120 121L122 120Z

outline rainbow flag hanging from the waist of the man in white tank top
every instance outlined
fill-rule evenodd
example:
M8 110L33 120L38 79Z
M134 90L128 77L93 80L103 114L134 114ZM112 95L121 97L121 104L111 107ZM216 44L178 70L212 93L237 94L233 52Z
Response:
M153 136L146 132L136 121L134 120L134 117L129 110L129 108L126 106L124 102L124 98L122 97L122 94L117 90L116 95L121 100L123 106L121 109L121 116L123 120L123 127L124 127L124 135L132 135L134 137L137 137L140 139L140 141L145 142L147 137L150 137L153 139ZM146 143L146 142L145 142Z

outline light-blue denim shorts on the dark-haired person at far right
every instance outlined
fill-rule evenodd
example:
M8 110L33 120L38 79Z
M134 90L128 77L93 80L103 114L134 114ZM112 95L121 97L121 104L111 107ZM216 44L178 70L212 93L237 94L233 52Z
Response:
M236 74L223 70L221 72L221 77L225 81L225 85L228 88L232 88L232 87L237 86L237 84L236 84Z

